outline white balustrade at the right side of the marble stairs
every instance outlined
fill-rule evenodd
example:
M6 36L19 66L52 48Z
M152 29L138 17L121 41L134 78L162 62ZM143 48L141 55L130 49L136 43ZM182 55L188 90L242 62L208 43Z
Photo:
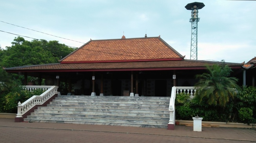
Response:
M176 98L176 93L189 93L190 97L193 98L195 93L196 93L196 87L172 87L172 93L171 93L171 98L170 98L170 104L169 104L169 111L170 111L170 120L168 124L174 124L175 125L175 98Z

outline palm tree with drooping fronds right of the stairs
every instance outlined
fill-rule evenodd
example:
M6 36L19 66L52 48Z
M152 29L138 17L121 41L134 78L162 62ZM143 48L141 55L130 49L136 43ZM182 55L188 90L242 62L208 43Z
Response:
M225 107L229 98L234 98L236 89L240 87L236 84L238 79L235 77L229 77L231 68L225 65L222 60L222 64L214 64L212 66L206 66L208 73L202 75L196 75L199 82L196 83L198 88L196 96L202 101L203 98L207 98L208 104Z

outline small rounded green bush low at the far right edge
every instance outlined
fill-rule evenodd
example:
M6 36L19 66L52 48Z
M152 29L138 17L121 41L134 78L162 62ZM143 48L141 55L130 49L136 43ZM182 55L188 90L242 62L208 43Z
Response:
M252 118L252 109L250 108L241 108L239 110L239 118L243 123L247 123L248 125L250 125L250 123L252 122L253 118Z

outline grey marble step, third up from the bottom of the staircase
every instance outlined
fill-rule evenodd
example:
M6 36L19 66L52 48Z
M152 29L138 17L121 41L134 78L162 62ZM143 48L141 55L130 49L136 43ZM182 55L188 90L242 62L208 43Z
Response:
M162 110L147 110L147 109L104 109L104 108L65 108L65 107L38 107L42 110L63 110L63 111L91 111L91 112L119 112L119 113L157 113L157 114L169 114L168 109Z

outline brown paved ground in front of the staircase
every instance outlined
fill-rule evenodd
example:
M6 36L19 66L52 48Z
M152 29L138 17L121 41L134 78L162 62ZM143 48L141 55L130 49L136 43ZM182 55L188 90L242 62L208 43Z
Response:
M175 130L77 125L62 123L15 123L0 118L0 143L250 143L256 129L193 127L176 125Z

